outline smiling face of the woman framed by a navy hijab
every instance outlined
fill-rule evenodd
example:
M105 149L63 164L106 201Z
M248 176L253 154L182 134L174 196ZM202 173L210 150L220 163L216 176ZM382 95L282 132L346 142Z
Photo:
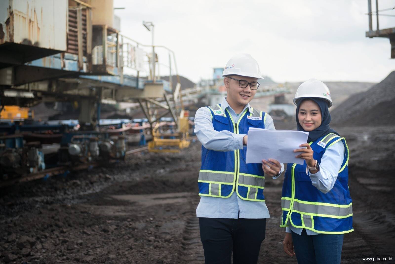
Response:
M306 99L301 103L298 119L305 131L313 131L319 127L322 122L321 116L320 106L316 102Z

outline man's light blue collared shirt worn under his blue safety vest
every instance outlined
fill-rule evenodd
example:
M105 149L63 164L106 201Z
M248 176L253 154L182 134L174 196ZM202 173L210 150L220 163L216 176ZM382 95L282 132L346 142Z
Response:
M252 112L250 104L247 104L241 112L243 113L247 107ZM239 120L239 116L229 106L226 97L222 100L221 108L224 111L228 109L235 122ZM273 118L268 114L265 120L265 129L276 130ZM214 130L211 112L207 107L201 107L196 111L195 133L201 144L209 150L233 151L246 148L243 146L243 137L246 135L234 134L227 130ZM284 171L282 164L281 170ZM275 178L273 177L273 179ZM238 216L240 218L270 218L265 202L243 200L237 196L236 192L233 192L229 198L201 196L198 208L196 208L196 217L237 218Z

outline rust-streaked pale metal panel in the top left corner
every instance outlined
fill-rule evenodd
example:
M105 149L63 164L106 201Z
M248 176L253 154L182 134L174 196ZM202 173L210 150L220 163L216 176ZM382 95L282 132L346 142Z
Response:
M0 1L0 44L67 50L67 0Z

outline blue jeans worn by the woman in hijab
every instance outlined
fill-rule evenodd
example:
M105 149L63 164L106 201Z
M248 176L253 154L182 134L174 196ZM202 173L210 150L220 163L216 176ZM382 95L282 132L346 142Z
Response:
M343 235L319 234L308 236L292 232L293 249L298 264L340 264Z

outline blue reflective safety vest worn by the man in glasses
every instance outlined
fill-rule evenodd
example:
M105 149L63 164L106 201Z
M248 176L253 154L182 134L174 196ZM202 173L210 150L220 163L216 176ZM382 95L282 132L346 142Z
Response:
M247 134L250 127L265 128L266 113L247 107L237 123L228 109L224 112L220 104L210 106L213 127L216 131L231 131ZM265 201L263 188L265 177L262 164L246 163L247 148L234 151L208 150L201 148L201 168L199 171L199 195L228 198L236 190L244 200Z

